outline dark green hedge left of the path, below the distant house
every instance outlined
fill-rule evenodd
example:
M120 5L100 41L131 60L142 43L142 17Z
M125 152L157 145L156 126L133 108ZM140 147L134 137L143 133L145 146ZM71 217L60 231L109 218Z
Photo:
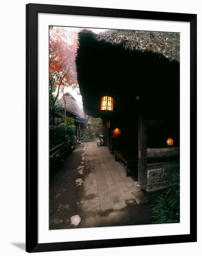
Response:
M66 146L74 144L76 136L75 125L50 125L50 148L66 142Z

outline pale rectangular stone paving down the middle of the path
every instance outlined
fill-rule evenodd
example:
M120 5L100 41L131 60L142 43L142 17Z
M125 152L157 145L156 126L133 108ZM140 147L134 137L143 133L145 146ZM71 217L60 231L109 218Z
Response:
M96 143L86 146L85 160L94 167L86 179L86 195L95 193L98 196L102 212L120 210L127 204L136 204L133 189L133 179L126 177L126 170L121 162L114 161L114 155L109 154L106 147L97 147ZM144 197L141 192L136 196Z

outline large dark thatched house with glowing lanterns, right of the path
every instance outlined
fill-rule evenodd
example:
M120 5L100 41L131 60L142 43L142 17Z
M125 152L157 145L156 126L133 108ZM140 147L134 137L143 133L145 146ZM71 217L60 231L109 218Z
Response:
M84 29L78 40L84 112L102 118L105 146L135 189L164 188L179 171L180 35Z

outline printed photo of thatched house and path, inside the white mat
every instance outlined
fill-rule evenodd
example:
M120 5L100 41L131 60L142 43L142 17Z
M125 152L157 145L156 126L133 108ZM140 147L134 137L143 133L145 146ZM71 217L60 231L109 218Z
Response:
M49 229L180 222L180 33L49 25Z

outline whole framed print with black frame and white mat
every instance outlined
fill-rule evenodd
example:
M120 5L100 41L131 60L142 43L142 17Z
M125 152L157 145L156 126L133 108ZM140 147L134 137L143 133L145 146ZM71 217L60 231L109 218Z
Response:
M26 6L26 251L196 242L196 14Z

